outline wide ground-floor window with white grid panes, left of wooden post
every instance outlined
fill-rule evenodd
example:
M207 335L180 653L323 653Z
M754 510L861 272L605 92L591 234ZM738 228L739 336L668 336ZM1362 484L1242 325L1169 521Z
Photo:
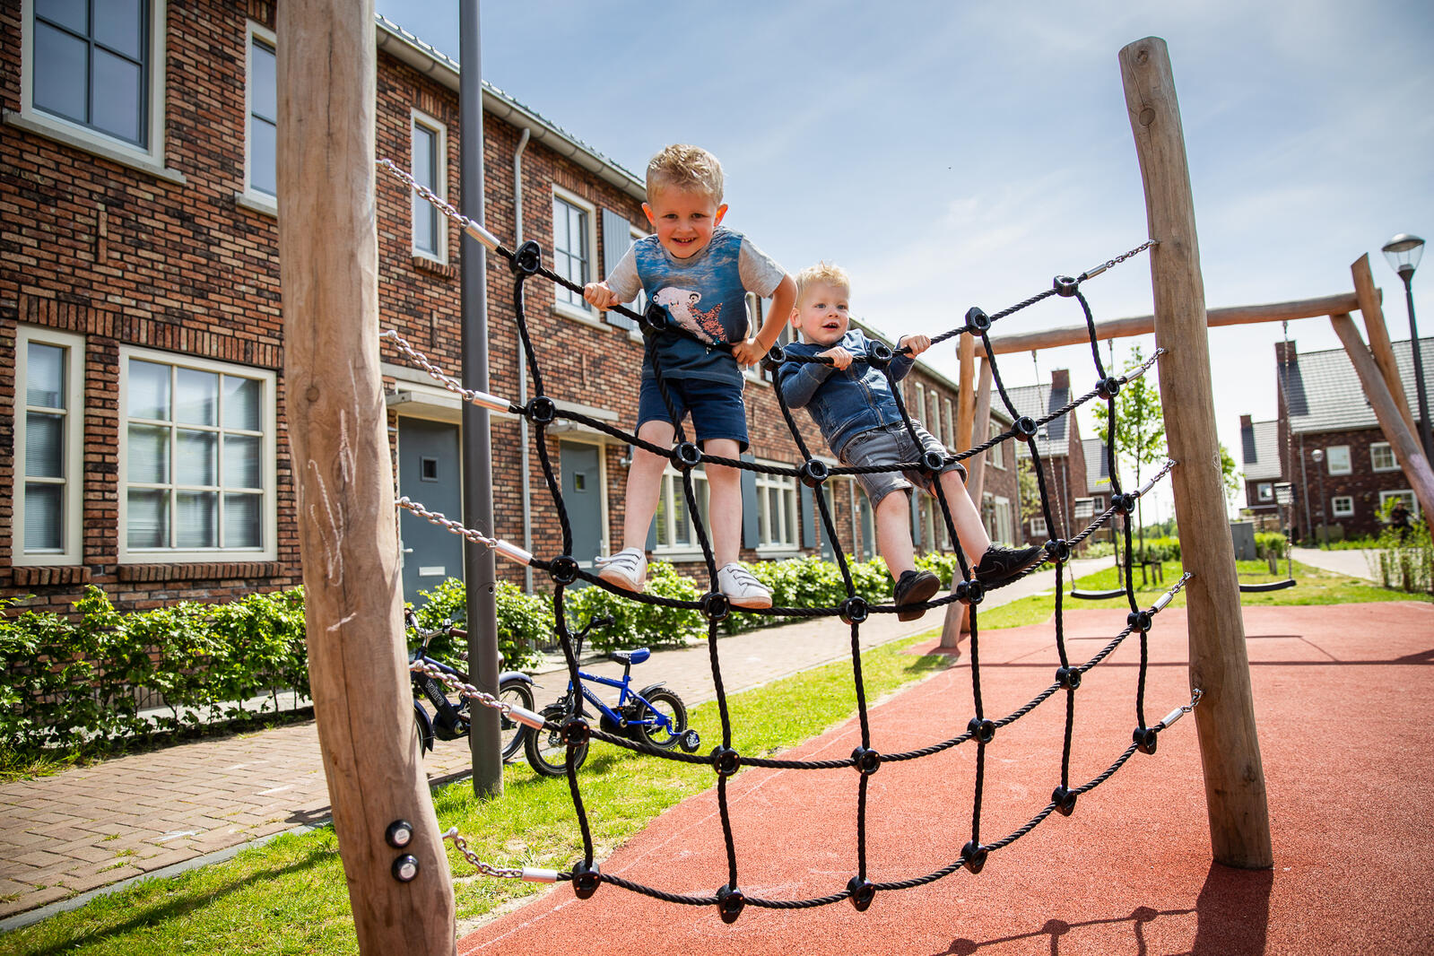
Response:
M272 559L274 374L120 353L120 560Z

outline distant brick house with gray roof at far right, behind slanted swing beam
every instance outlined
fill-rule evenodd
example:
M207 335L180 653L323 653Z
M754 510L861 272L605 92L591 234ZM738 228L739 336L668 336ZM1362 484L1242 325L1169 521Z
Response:
M1392 344L1405 401L1417 410L1410 341ZM1349 355L1342 348L1299 353L1295 345L1275 343L1278 441L1282 473L1293 486L1293 533L1315 540L1326 520L1331 537L1378 535L1381 510L1392 497L1404 499L1417 516L1418 502ZM1420 340L1420 345L1425 365L1434 363L1434 340Z

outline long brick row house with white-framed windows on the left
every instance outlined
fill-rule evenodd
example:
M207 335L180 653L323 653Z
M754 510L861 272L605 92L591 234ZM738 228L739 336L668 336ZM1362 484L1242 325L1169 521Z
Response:
M90 583L123 609L300 583L270 152L275 4L152 0L148 13L138 39L96 40L29 0L0 6L0 354L13 357L0 364L0 525L11 529L0 535L0 593L34 595L32 608L63 611ZM85 57L99 40L135 77L109 97L125 106L110 103L113 116L89 112L85 85L99 80ZM37 83L37 43L73 49L79 79ZM381 17L377 46L379 155L456 205L457 64ZM483 107L488 228L535 239L545 264L575 278L602 275L642 234L641 179L500 90L485 89ZM391 178L380 175L376 198L380 324L456 374L459 232ZM521 368L512 291L506 264L489 257L489 390L519 400L535 383ZM641 338L569 298L526 284L542 384L561 406L631 429ZM459 484L459 403L387 345L383 363L399 492L437 506L426 494ZM954 384L918 365L906 388L949 437ZM796 464L771 386L754 373L746 397L753 456ZM495 414L492 444L496 535L556 555L526 423ZM619 546L628 446L559 424L546 451L585 522L576 556ZM988 494L1014 502L1015 470L1008 486L1001 470L987 470ZM832 480L827 494L847 550L873 553L855 483ZM650 542L655 558L697 570L681 507L665 489ZM830 552L794 479L747 474L744 512L746 560ZM913 509L913 523L922 549L945 546L929 513ZM462 566L459 539L423 525L400 520L410 593ZM522 568L498 563L525 583Z

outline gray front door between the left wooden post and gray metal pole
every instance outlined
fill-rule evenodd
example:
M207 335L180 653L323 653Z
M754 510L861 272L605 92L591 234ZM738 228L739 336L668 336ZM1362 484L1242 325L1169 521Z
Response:
M462 519L463 492L459 482L459 427L423 419L399 419L399 494ZM463 579L463 539L453 532L399 512L399 540L403 549L403 599L416 606L447 578Z

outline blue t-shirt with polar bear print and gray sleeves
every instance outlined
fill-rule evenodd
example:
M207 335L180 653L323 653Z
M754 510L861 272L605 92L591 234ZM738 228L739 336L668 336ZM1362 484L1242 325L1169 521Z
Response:
M741 370L724 348L749 335L747 292L770 297L786 271L740 232L717 226L711 242L697 255L678 259L655 235L638 239L607 277L618 301L637 297L638 287L650 301L667 310L677 333L658 333L654 348L665 378L707 378L741 386ZM644 333L651 337L652 333ZM707 343L707 344L704 344ZM652 377L651 355L642 360L642 377Z

